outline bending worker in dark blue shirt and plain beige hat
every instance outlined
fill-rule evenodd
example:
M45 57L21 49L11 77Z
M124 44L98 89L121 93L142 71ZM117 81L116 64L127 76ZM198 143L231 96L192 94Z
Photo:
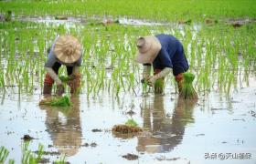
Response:
M178 90L182 88L183 73L188 69L187 58L181 42L175 37L165 34L144 36L137 39L136 61L144 65L143 80L154 86L157 80L162 80L171 71L176 77ZM150 76L151 66L154 76Z

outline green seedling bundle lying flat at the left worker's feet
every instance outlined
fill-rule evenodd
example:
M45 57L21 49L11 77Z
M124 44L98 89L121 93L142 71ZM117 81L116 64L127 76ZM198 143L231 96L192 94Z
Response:
M51 106L51 107L69 107L71 106L70 98L68 96L64 97L50 97L42 99L39 102L39 106Z

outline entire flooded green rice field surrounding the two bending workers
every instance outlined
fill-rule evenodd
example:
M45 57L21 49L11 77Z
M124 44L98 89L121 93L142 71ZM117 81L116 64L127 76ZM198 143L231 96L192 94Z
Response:
M255 163L256 4L218 2L0 1L12 12L0 22L0 163ZM136 39L162 33L183 44L197 101L171 74L164 95L141 84ZM42 108L48 48L64 34L82 45L81 92L69 110ZM112 134L127 120L143 134Z

